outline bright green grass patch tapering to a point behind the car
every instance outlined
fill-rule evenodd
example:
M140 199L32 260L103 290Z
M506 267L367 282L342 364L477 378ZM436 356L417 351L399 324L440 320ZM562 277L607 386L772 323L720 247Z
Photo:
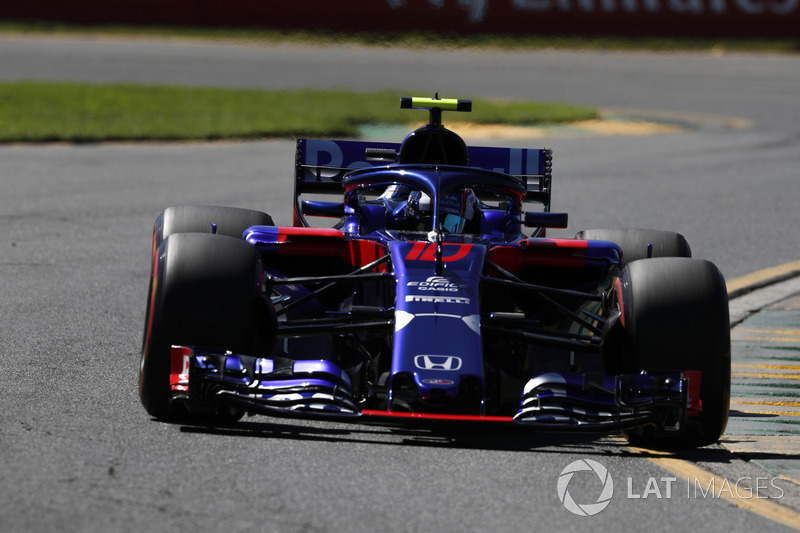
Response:
M427 120L425 111L401 110L400 96L340 90L0 83L0 142L355 137L361 124ZM597 116L592 108L561 103L474 100L473 109L445 113L445 123L542 124Z

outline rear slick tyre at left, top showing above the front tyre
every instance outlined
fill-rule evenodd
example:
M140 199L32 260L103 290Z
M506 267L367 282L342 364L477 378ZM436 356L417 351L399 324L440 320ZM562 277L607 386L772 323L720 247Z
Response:
M272 226L272 217L261 211L239 207L212 205L178 205L168 207L156 219L153 242L157 248L164 239L175 233L211 233L216 225L217 235L242 238L250 226Z

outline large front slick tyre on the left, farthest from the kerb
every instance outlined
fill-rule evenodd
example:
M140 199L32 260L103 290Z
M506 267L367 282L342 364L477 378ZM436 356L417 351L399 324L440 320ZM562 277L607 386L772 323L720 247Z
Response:
M170 411L172 345L258 353L269 338L254 246L202 233L168 236L152 269L139 374L139 397L156 418Z

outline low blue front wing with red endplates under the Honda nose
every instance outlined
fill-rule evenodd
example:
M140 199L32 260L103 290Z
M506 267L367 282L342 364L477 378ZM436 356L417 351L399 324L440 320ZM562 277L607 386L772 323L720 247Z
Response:
M325 360L273 360L173 346L173 401L192 413L251 414L387 425L480 423L531 430L608 432L654 426L680 432L700 413L700 372L589 375L548 372L528 381L516 413L438 414L362 408L347 372Z

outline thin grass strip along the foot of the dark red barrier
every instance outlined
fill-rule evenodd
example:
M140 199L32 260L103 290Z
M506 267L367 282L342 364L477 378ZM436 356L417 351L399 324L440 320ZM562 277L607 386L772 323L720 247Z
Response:
M355 43L366 46L436 47L436 48L499 48L503 50L642 50L698 51L721 53L800 52L797 38L705 38L705 37L624 37L580 35L471 35L445 32L356 32L325 31L281 32L257 28L193 27L193 26L130 26L78 25L44 21L0 21L0 32L22 34L78 34L137 37L174 37L210 40L244 40L273 44L277 42L303 44Z

